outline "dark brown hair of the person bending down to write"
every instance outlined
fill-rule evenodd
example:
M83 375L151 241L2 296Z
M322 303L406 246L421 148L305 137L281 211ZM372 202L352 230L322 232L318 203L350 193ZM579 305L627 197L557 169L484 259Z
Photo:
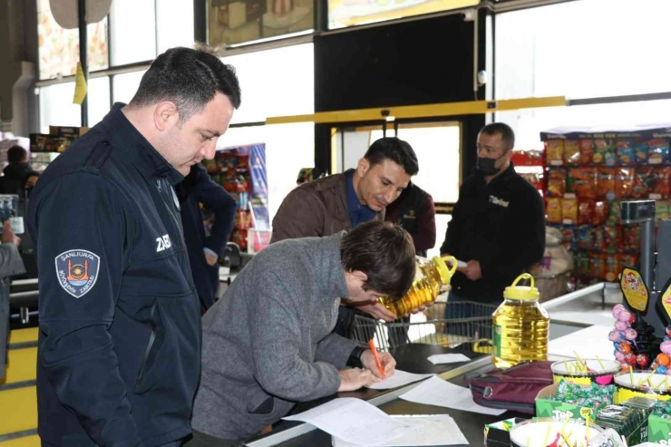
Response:
M389 222L366 222L347 233L340 242L340 259L345 271L365 273L364 290L380 292L392 300L403 297L413 285L413 238Z

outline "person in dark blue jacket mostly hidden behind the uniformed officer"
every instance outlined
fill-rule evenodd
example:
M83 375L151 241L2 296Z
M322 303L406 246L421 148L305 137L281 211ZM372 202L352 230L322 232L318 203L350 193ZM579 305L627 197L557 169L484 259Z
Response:
M176 187L180 199L184 242L189 252L193 282L200 297L200 306L207 311L217 299L219 288L219 258L224 255L226 242L233 229L238 204L230 194L210 179L201 164L191 166L189 174ZM200 204L214 214L214 224L205 234Z

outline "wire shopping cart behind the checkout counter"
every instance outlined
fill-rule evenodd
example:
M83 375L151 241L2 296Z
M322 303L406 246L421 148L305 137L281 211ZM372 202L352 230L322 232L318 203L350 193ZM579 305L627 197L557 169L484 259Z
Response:
M472 301L435 303L424 311L426 321L384 323L357 314L353 336L359 343L374 339L378 349L422 343L491 354L491 314L497 306ZM445 318L447 308L448 318ZM431 319L433 318L433 319Z

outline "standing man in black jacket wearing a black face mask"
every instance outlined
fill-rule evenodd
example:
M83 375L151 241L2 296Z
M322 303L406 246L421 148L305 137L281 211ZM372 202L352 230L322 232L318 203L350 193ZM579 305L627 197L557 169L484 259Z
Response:
M503 289L543 257L543 200L515 172L514 143L512 129L501 122L478 135L477 171L463 182L441 247L442 255L466 262L452 277L448 302L498 304Z

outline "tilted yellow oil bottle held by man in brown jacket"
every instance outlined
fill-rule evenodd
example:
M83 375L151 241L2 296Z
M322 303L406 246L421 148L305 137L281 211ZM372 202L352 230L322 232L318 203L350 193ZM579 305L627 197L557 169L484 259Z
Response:
M450 284L452 275L457 269L457 260L452 256L442 258L436 256L431 260L418 256L416 259L417 271L410 290L395 303L386 296L379 298L384 307L394 312L396 316L404 316L419 306L435 301L441 293L441 288ZM451 267L447 267L447 262Z

